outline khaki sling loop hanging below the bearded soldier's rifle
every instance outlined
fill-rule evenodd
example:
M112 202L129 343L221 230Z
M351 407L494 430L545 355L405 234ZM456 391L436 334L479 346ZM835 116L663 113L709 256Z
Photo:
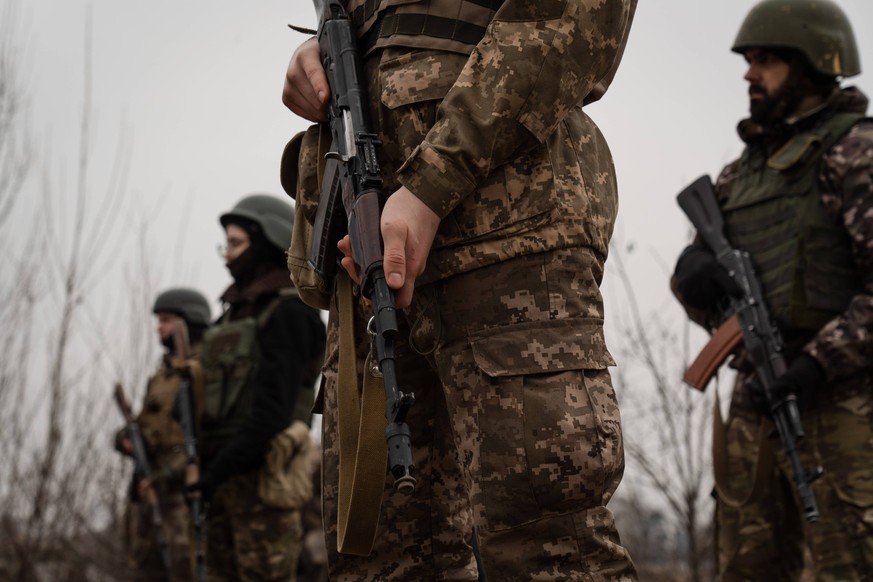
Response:
M727 433L724 420L721 417L721 403L718 397L718 390L715 391L712 419L712 468L718 499L728 507L737 509L748 503L759 501L763 497L773 468L773 439L769 437L772 428L772 422L766 418L761 418L757 438L758 456L755 459L753 471L754 481L745 497L740 497L731 490L728 479L730 469L728 467Z

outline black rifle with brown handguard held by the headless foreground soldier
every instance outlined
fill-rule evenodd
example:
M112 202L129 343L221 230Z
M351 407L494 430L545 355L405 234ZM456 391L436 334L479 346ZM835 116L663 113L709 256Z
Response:
M352 22L340 0L315 0L319 16L318 44L331 89L328 117L333 137L327 154L321 196L309 257L313 268L330 279L337 269L337 242L348 233L352 258L361 276L361 292L373 302L376 357L385 383L385 438L394 486L415 488L412 445L406 414L415 400L397 385L394 337L397 313L394 294L382 268L380 216L384 203L376 149L381 145L372 131L369 100Z

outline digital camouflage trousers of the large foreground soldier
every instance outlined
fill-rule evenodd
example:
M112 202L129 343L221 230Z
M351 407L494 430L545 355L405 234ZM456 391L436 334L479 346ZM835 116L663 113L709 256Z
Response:
M590 269L576 251L519 257L416 290L411 325L397 344L397 376L415 393L407 423L417 485L411 495L395 493L386 471L367 557L337 551L336 354L329 353L323 509L331 580L476 580L474 527L491 580L635 579L606 508L624 470L609 373L567 366L584 354L558 354L562 348L546 340L559 319L567 338L585 329L573 285L597 283L580 281ZM335 346L335 324L328 333ZM358 345L365 352L366 338Z

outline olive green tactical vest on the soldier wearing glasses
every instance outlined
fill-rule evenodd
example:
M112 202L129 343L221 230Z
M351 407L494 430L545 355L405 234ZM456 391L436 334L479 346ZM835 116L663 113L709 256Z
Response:
M297 289L282 289L258 317L224 322L228 317L226 313L218 324L206 330L202 350L201 440L204 443L226 440L242 425L252 406L252 379L260 359L258 333L282 301L297 298ZM288 424L294 420L309 424L314 399L314 386L300 386Z

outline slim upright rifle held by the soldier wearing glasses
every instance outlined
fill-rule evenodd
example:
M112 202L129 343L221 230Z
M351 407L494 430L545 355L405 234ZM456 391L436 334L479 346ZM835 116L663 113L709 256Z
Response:
M188 326L181 317L176 318L173 330L173 345L176 357L180 362L188 360L190 345L188 341ZM190 487L200 481L200 457L197 454L197 420L194 406L194 387L187 370L181 371L179 392L176 394L174 415L182 425L187 465L185 467L185 485ZM191 511L191 521L194 523L194 557L197 582L206 582L206 554L204 551L204 529L206 509L200 491L188 490L185 493L188 509Z

